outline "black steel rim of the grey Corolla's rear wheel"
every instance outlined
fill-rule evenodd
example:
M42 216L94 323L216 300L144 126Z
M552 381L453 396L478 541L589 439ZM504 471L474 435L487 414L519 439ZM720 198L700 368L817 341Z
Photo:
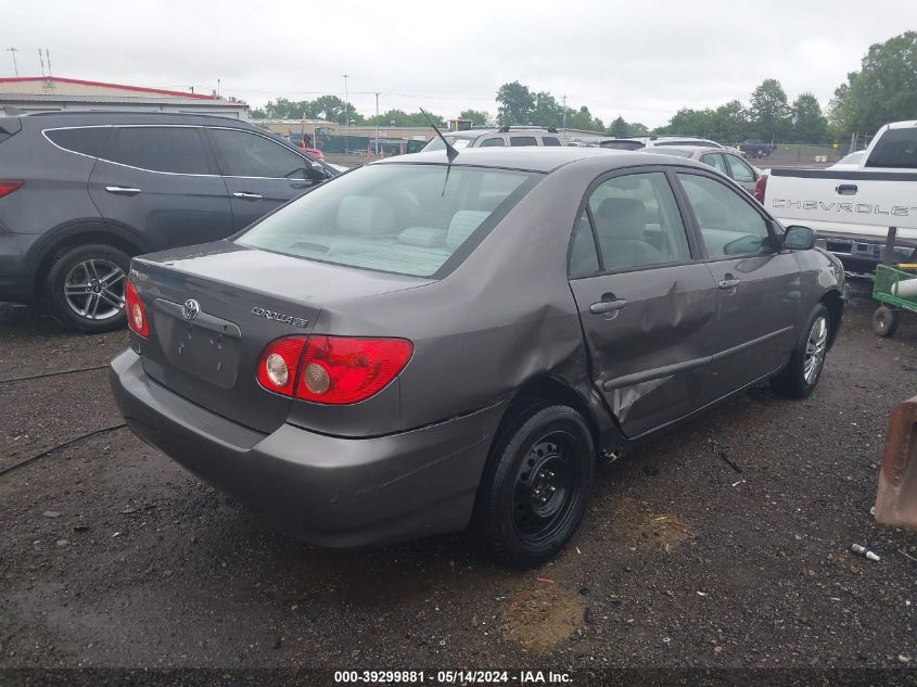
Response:
M520 538L537 544L565 526L573 504L576 466L564 432L537 441L521 461L513 493L513 526Z

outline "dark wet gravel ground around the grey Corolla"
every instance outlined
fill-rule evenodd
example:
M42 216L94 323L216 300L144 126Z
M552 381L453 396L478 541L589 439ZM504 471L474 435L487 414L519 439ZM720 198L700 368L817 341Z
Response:
M869 509L917 317L877 339L855 294L812 398L755 390L604 466L536 571L467 535L309 548L127 430L0 475L0 667L905 667L917 537ZM124 345L9 310L0 379ZM0 383L0 468L120 421L104 370Z

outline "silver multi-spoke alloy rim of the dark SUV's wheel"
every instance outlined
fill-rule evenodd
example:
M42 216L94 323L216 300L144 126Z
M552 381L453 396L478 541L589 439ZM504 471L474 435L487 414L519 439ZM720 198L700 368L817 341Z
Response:
M124 309L127 276L113 262L90 258L74 265L64 278L64 300L79 317L101 321Z

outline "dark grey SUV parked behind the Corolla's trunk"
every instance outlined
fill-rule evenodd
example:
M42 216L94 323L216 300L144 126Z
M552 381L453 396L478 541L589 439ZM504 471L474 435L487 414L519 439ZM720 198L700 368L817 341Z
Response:
M335 174L225 117L0 116L0 301L116 329L131 256L222 239Z

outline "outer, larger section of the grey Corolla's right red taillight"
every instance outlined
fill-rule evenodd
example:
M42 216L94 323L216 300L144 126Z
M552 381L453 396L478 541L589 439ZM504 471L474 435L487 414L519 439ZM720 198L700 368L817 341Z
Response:
M406 339L310 336L300 362L296 398L341 405L365 400L405 369L413 353Z

